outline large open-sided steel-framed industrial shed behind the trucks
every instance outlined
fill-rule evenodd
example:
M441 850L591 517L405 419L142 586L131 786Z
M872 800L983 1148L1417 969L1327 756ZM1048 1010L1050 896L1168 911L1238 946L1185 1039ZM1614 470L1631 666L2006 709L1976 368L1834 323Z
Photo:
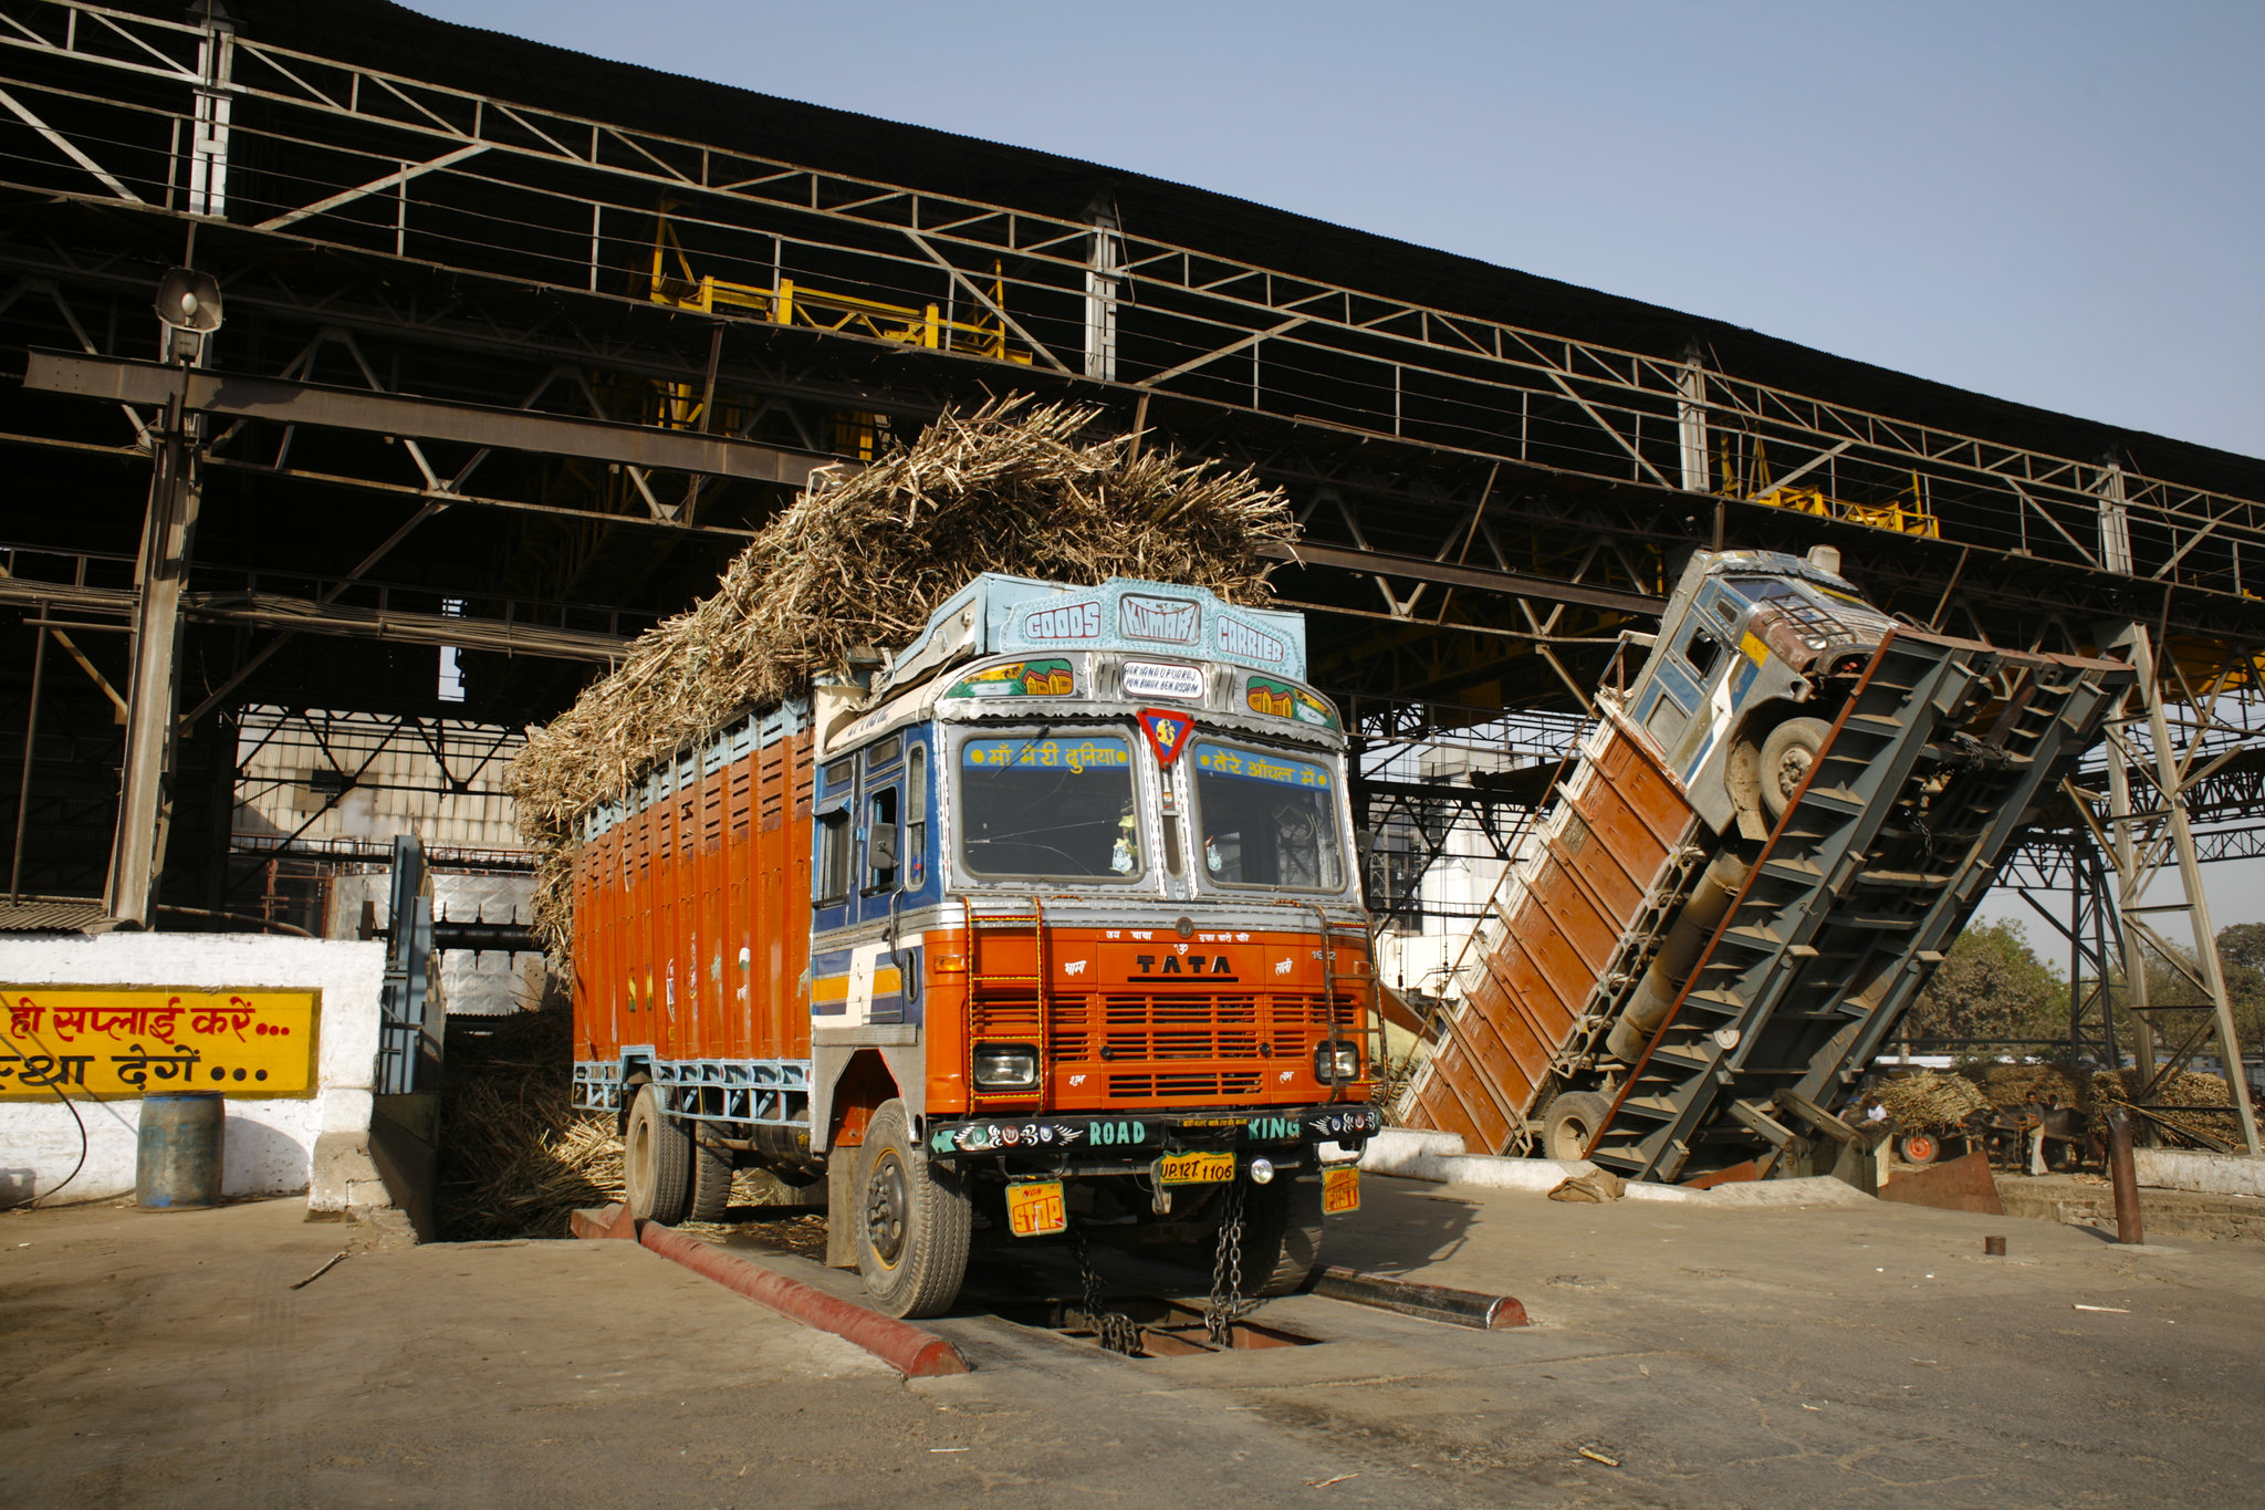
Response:
M0 0L7 926L383 926L396 833L507 921L519 731L815 469L1006 392L1296 500L1275 584L1409 935L1484 910L1427 876L1511 851L1696 546L2127 636L2145 697L2009 878L2072 1041L2224 1053L2197 867L2265 853L2265 462L385 0ZM2100 987L2197 942L2174 1001Z

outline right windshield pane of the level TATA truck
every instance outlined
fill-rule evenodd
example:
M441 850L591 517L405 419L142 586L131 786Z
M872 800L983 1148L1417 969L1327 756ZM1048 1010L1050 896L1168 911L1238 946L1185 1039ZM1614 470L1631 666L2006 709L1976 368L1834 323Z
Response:
M1216 885L1345 885L1330 767L1264 749L1196 745L1203 874Z

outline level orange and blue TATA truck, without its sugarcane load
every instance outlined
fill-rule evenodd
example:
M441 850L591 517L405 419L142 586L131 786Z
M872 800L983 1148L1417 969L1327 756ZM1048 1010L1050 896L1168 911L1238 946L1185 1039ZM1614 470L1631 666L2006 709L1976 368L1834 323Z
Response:
M870 686L754 709L589 810L575 1105L630 1204L827 1179L874 1299L933 1315L972 1229L1241 1232L1318 1263L1375 983L1345 736L1305 623L1203 589L988 573ZM1332 1204L1357 1200L1332 1170Z

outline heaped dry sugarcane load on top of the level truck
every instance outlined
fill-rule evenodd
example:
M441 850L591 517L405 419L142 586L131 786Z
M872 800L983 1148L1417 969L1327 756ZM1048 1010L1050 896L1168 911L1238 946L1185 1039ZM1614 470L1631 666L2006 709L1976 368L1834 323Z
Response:
M1266 548L1296 537L1287 498L1139 437L1085 439L1099 417L1006 398L947 412L863 471L822 473L711 598L639 636L616 672L530 729L510 788L544 856L535 921L553 958L571 930L575 817L686 743L904 645L978 573L1146 577L1264 602Z

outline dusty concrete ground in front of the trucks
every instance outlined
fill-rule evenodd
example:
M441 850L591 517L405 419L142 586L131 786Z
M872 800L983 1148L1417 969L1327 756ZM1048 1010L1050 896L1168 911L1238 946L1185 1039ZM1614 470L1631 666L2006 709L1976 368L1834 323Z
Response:
M976 1372L906 1383L627 1243L371 1252L292 1290L342 1245L297 1202L0 1216L0 1503L2265 1499L2254 1243L2116 1250L1894 1204L1364 1193L1332 1261L1511 1293L1536 1324L1293 1297L1255 1320L1323 1345L1126 1361L978 1302L933 1322ZM2011 1254L1984 1259L1984 1234ZM1062 1279L1022 1256L985 1281Z

